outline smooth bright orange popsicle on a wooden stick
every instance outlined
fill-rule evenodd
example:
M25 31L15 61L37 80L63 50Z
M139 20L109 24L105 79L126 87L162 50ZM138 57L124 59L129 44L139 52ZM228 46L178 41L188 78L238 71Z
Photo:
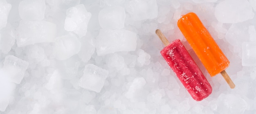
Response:
M220 50L198 16L192 12L183 15L178 20L178 27L211 77L221 73L230 88L234 88L233 81L225 72L225 69L229 66L229 60Z

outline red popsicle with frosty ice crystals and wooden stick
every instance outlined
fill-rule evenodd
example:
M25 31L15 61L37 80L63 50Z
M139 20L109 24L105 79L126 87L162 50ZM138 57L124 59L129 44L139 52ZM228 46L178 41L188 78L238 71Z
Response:
M161 50L161 55L192 98L195 101L201 101L209 96L212 92L210 83L195 64L195 61L189 55L182 42L180 42L180 39L176 39L169 44L159 29L157 29L156 33L166 46Z

